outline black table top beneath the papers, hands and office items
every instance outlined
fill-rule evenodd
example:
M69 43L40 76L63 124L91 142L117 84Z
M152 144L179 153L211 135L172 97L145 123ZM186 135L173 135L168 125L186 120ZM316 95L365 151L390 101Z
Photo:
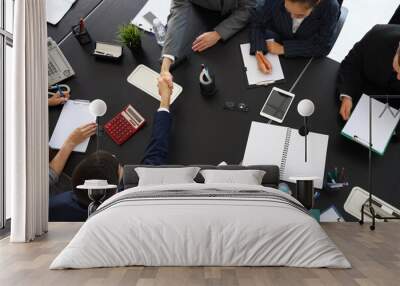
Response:
M96 41L116 41L117 27L130 22L145 2L104 0L86 20L91 37ZM249 88L243 70L239 45L248 42L247 34L247 30L243 30L227 42L203 53L192 54L173 72L175 81L183 86L183 92L171 107L171 164L218 164L221 161L238 164L243 159L251 122L268 121L259 112L272 87ZM127 82L127 77L139 64L156 71L160 68L161 48L154 36L145 34L142 42L141 56L133 56L128 49L124 49L123 58L118 63L96 60L91 55L93 46L80 46L73 36L60 46L76 72L75 77L66 81L72 89L72 98L100 98L107 103L108 111L101 123L110 120L127 104L132 104L146 118L146 126L122 146L115 144L107 135L102 137L102 148L115 154L122 164L140 162L150 140L153 115L159 106L158 101ZM307 62L308 59L281 57L286 80L276 86L289 90ZM202 63L216 75L218 93L210 99L200 95L198 75ZM316 111L311 117L312 131L330 137L326 170L344 166L351 184L345 190L322 190L316 207L324 209L334 204L350 220L354 218L343 211L343 204L351 187L367 187L368 150L340 135L344 123L338 116L335 88L338 68L338 63L327 58L313 60L293 91L296 97L283 125L301 127L302 118L296 111L297 103L304 98L314 101ZM227 100L246 103L249 112L224 110L223 103ZM52 134L60 111L61 107L49 110L49 134ZM95 151L96 140L91 139L87 154ZM392 144L384 157L374 157L375 193L397 207L400 206L396 196L400 178L391 170L395 170L399 162L399 146ZM84 156L72 154L65 172L70 174Z

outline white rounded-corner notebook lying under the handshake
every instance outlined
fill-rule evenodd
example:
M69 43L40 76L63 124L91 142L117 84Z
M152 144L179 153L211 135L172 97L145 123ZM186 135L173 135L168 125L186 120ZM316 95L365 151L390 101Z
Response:
M158 101L161 97L158 93L157 79L160 76L159 73L153 71L145 65L138 65L136 69L128 76L128 82L133 84L137 88L143 90L147 94L151 95ZM182 93L183 88L174 83L171 96L171 104L178 98Z

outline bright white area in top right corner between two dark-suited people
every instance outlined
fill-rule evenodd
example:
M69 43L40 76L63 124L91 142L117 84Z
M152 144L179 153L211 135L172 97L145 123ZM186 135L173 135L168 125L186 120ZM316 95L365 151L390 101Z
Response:
M328 58L342 62L373 26L387 24L399 5L400 0L344 0L349 13Z

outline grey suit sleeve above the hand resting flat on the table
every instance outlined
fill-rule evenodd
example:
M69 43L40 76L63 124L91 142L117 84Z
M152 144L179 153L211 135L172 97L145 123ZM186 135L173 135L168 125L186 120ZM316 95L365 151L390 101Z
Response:
M239 0L238 7L224 21L218 24L214 30L221 36L223 41L243 29L250 18L251 11L255 8L255 0Z

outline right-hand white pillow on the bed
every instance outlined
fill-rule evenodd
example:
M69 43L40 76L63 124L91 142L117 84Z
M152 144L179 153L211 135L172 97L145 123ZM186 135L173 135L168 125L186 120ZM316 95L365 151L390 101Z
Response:
M206 184L261 185L265 171L261 170L202 170Z

